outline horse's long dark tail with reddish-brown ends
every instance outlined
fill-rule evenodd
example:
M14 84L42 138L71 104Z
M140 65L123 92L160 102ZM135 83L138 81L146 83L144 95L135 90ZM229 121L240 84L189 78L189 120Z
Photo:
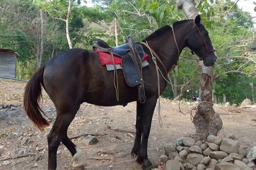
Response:
M44 130L45 126L49 125L49 122L45 118L43 118L40 111L44 115L45 113L38 105L40 99L43 100L41 85L43 85L44 68L45 65L41 66L31 76L30 80L28 81L25 87L24 93L24 110L27 113L29 119L31 119L32 122L42 131Z

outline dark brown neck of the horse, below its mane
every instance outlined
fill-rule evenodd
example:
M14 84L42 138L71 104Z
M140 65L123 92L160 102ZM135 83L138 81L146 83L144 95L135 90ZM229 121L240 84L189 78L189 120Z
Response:
M173 28L172 28L173 29ZM174 28L166 36L161 36L152 43L160 59L164 63L166 70L170 71L173 65L179 59L179 54L185 48L186 36L190 32L185 25ZM179 50L178 50L179 49ZM179 54L178 54L179 53Z

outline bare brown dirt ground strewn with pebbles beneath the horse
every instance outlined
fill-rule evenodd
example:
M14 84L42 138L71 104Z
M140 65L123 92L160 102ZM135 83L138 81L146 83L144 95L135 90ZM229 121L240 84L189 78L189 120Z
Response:
M0 79L0 169L24 170L47 169L48 144L47 134L52 124L43 132L37 129L24 113L22 100L25 82ZM46 114L55 119L55 107L47 94L42 108ZM181 110L185 113L196 105L181 103ZM161 99L161 116L163 127L158 122L157 108L153 116L150 138L148 141L148 156L164 154L163 146L174 143L177 138L191 136L195 133L190 114L179 113L179 105L171 100ZM223 120L223 129L219 136L234 134L239 145L256 145L256 109L239 107L214 106L216 113ZM81 133L98 134L98 143L86 145L84 137L72 139L74 144L83 152L86 168L90 170L136 170L141 169L130 155L134 143L134 133L119 132L114 129L135 131L136 104L129 103L126 107L100 107L84 103L81 105L73 122L69 126L68 136L74 137ZM19 137L27 140L26 144L19 141ZM20 138L21 139L21 138ZM11 154L13 150L25 150L25 154ZM73 170L71 154L61 144L58 148L57 169ZM98 154L100 151L109 153ZM17 158L18 156L30 156ZM11 158L11 164L4 165L3 160ZM99 160L98 160L99 159Z

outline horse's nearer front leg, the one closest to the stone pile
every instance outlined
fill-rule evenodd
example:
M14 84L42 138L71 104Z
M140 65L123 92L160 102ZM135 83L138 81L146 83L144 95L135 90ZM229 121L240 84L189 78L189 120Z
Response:
M151 121L156 107L157 97L146 99L145 103L137 102L137 109L140 110L141 119L141 146L137 156L137 162L142 163L142 169L152 165L147 157L147 141L150 133Z

